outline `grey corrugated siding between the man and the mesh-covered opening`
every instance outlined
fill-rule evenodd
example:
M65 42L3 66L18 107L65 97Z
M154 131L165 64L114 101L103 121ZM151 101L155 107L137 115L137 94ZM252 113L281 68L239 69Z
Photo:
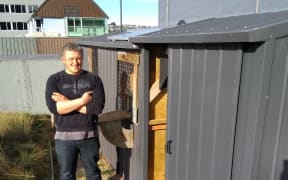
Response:
M98 75L103 81L106 102L103 112L116 109L117 97L117 51L98 49ZM111 145L100 133L101 151L105 158L116 168L116 147Z

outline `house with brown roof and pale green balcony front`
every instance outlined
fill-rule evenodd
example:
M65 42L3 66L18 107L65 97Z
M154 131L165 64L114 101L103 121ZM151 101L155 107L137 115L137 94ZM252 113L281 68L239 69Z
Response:
M108 33L107 20L92 0L47 0L32 15L28 36L99 36Z

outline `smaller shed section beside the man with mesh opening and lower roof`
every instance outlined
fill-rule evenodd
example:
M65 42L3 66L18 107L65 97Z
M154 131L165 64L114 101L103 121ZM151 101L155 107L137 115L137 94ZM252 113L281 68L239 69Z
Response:
M149 88L149 74L144 70L147 69L146 66L149 66L149 62L144 63L142 59L147 59L146 56L149 56L149 53L128 42L128 37L132 34L135 35L135 33L120 33L85 38L77 43L88 49L90 71L97 73L103 81L106 94L104 116L117 110L132 114L132 118L121 120L120 123L120 128L124 132L132 131L132 144L121 142L111 144L111 141L106 140L105 129L107 128L104 127L103 132L103 123L102 125L100 123L102 153L116 169L118 175L124 176L127 180L135 178L146 180L148 179L149 105L145 101L149 99L149 92L146 91ZM108 133L109 126L110 133L114 134L115 131L119 133L119 129L115 129L119 127L119 122L114 121L105 125L108 126ZM118 137L124 135L125 133L118 134ZM165 139L163 140L162 159L165 154L164 143ZM164 174L164 171L162 172Z

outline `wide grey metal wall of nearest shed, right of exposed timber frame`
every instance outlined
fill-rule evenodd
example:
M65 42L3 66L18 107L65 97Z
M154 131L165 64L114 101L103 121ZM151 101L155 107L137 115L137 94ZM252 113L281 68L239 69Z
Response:
M166 179L286 180L288 37L168 56Z

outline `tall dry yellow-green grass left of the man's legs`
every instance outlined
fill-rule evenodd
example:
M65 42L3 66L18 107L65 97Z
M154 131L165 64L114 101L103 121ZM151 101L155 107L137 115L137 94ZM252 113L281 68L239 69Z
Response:
M52 128L47 119L45 115L0 113L0 179L51 179Z

